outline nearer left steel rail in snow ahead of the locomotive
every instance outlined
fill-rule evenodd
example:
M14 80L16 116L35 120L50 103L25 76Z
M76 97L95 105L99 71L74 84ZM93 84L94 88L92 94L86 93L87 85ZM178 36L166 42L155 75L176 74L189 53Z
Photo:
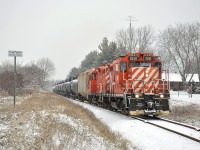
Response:
M183 136L183 137L186 137L186 138L188 138L188 139L191 139L191 140L193 140L193 141L196 141L196 142L199 142L199 143L200 143L200 139L194 138L194 137L192 137L192 136L189 136L189 135L183 134L183 133L181 133L181 132L178 132L178 131L175 131L175 130L172 130L172 129L163 127L163 126L161 126L161 125L158 125L158 124L156 124L156 123L152 123L152 122L150 122L150 121L148 121L148 120L145 120L145 119L142 119L142 118L139 118L139 117L134 117L134 116L132 116L132 118L137 119L137 120L140 120L140 121L145 122L145 123L148 123L148 124L151 124L151 125L153 125L153 126L162 128L162 129L164 129L164 130L167 130L167 131L176 133L176 134L178 134L178 135L181 135L181 136Z

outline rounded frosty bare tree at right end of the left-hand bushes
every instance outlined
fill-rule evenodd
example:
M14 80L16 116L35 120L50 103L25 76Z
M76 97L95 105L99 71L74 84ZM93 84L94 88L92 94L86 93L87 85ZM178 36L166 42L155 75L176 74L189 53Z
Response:
M45 86L45 82L55 73L54 63L49 58L41 58L37 61L37 66L41 69L39 80L41 87Z

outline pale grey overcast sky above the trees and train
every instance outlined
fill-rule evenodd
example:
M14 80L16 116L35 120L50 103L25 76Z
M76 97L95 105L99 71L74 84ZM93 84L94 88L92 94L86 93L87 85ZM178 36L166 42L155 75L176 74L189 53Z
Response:
M200 21L200 0L0 0L0 63L8 50L23 51L18 62L50 58L54 79L65 79L103 37L119 29L152 25L156 31L177 22Z

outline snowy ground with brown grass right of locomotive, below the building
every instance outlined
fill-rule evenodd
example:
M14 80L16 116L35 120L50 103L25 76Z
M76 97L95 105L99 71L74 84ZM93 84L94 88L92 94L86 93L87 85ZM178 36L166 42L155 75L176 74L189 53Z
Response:
M170 110L166 118L200 127L200 94L171 91Z

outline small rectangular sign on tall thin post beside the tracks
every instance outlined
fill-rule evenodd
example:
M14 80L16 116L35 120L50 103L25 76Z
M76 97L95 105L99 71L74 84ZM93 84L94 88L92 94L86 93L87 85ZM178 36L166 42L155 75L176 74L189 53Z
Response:
M14 108L15 108L15 97L16 97L16 57L22 57L22 51L8 51L9 57L14 57L14 72L13 72L13 97L14 97Z

